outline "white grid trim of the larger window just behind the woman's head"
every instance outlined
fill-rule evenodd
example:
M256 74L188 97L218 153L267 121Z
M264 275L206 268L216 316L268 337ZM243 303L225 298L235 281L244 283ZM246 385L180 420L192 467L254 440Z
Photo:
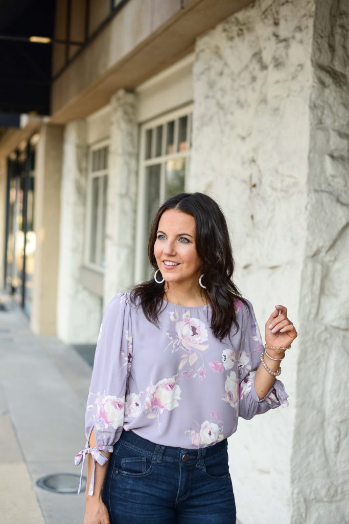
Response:
M192 151L189 147L187 151L181 151L181 152L175 152L171 155L163 155L156 158L150 158L147 160L144 160L145 156L145 134L147 133L147 130L150 128L154 128L158 125L166 124L167 122L171 122L172 120L175 120L175 126L178 125L178 118L181 116L185 116L188 114L192 114L193 119L193 108L194 104L188 104L184 107L181 107L175 111L172 111L170 113L166 113L160 117L154 118L144 124L140 125L140 149L139 149L139 159L138 159L138 173L139 173L139 183L138 183L138 197L137 197L137 219L136 219L136 248L135 248L135 264L134 264L134 282L141 282L143 280L143 256L144 256L144 250L146 251L148 249L148 238L145 238L144 235L144 216L146 212L146 205L147 202L145 201L144 195L145 195L145 167L149 165L154 165L154 163L161 163L161 174L160 174L160 205L165 200L165 160L170 158L183 158L186 157L186 168L185 168L185 186L187 185L188 180L188 170L189 170L189 163L190 163L190 156L192 154ZM189 127L189 118L188 123ZM193 125L193 122L191 122L191 125ZM166 144L166 133L167 133L167 127L164 127L164 133L162 136L163 145ZM187 129L188 131L188 129ZM187 133L187 137L190 144L190 136ZM177 133L175 133L175 141L177 140ZM152 148L154 148L155 140L152 140ZM177 144L174 144L174 149L177 149ZM164 150L164 148L163 148ZM186 187L184 189L186 191Z

